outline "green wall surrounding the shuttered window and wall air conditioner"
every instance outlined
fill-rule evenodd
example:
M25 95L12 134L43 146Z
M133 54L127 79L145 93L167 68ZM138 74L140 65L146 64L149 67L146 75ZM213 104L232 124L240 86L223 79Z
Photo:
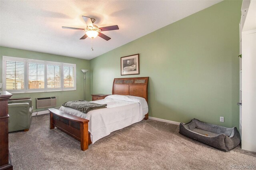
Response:
M56 61L63 63L76 64L76 91L44 92L44 93L21 93L13 94L12 98L31 97L34 111L36 111L36 97L56 96L57 107L60 107L66 101L84 99L84 73L81 69L90 70L90 61L61 55L48 53L39 53L22 49L0 47L0 82L2 82L2 56L22 57L29 59L39 59L45 61ZM86 99L90 99L90 71L86 73ZM38 109L46 110L46 109Z

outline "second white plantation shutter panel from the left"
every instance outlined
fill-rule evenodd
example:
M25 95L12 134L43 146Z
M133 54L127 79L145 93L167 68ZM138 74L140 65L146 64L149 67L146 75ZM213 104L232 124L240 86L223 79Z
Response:
M44 89L44 64L28 63L28 89Z

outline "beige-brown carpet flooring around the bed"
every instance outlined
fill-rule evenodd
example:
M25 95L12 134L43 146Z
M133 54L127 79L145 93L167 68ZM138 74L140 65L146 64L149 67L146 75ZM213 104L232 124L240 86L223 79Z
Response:
M178 125L143 120L112 132L88 150L59 129L49 129L49 115L32 118L27 132L9 134L14 170L60 169L230 169L254 166L256 153L222 152L178 133Z

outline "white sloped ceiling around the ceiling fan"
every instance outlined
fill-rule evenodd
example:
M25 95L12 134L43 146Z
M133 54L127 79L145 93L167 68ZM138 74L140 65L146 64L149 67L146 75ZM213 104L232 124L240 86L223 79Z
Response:
M194 14L221 0L1 0L0 45L92 59L150 32ZM96 19L99 27L118 25L102 32L112 38L79 40L85 31L82 15Z

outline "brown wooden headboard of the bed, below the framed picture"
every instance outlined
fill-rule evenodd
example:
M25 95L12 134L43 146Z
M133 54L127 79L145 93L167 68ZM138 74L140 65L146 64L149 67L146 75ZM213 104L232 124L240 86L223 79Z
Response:
M115 78L112 95L138 96L148 102L148 77Z

